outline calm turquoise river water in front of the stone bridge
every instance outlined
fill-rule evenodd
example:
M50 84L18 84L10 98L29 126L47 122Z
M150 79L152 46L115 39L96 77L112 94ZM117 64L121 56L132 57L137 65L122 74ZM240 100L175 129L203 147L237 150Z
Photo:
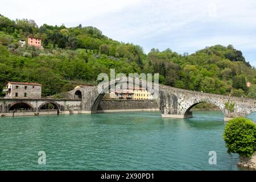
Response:
M239 170L220 111L192 119L159 112L0 118L1 170ZM256 120L256 114L250 115ZM46 165L38 152L46 152ZM217 152L217 165L208 163Z

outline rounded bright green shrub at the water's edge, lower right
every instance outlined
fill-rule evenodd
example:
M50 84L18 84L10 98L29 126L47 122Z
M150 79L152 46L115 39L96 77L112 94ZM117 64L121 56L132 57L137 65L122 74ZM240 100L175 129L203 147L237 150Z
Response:
M228 152L251 156L256 150L256 125L246 118L234 118L225 127L223 138Z

